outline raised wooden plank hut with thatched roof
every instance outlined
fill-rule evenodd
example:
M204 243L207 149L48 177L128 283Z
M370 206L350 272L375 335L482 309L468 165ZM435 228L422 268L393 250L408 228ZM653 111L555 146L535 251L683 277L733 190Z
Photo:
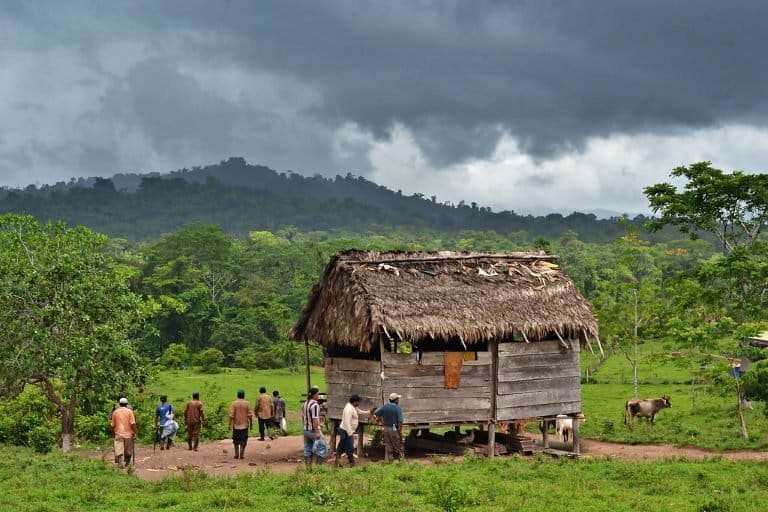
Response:
M581 412L589 303L544 253L346 252L291 331L326 350L328 414L403 396L405 424L484 424ZM492 439L491 439L492 440Z

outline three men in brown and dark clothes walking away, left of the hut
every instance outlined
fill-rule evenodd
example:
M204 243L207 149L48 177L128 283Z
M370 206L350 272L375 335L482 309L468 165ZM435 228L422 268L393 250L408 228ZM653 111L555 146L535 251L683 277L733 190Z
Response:
M285 400L280 392L275 390L270 397L267 388L259 389L259 398L256 407L251 410L251 404L245 399L245 391L237 392L237 400L229 407L229 428L232 430L232 444L235 447L235 458L242 459L245 455L245 447L248 444L248 432L253 428L253 417L256 416L259 423L259 441L265 440L265 431L270 439L274 439L274 431L285 435ZM254 414L255 413L255 414Z

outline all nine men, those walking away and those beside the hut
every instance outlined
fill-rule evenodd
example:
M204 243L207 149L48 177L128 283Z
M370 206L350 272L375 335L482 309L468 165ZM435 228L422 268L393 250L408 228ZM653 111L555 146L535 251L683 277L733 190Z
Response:
M254 416L258 420L259 441L264 441L266 436L274 439L275 431L285 435L286 415L285 400L280 392L275 390L272 396L267 394L267 389L259 389L259 398L256 406L251 409L248 400L245 399L245 391L237 392L237 399L229 408L229 429L232 430L232 443L235 449L235 459L245 457L245 448L248 444L248 434L253 429ZM304 462L307 466L322 464L328 454L328 443L321 430L320 414L320 390L312 387L309 390L307 400L301 409L304 438ZM400 408L401 396L397 393L389 395L389 403L378 408L373 408L368 413L373 420L382 426L384 443L387 445L387 454L403 459L403 410ZM336 465L341 466L341 458L346 455L349 465L355 465L354 458L354 434L360 425L360 414L366 411L360 410L360 397L352 395L344 406L339 425L339 444L336 447ZM205 421L205 410L200 401L200 393L192 393L192 399L184 408L184 423L187 427L187 447L197 451L200 443L200 432ZM138 434L136 417L128 406L128 400L121 397L117 406L112 411L110 418L112 432L114 434L115 462L119 467L128 465L133 460L134 441ZM160 405L155 409L155 442L160 444L161 450L170 450L173 440L179 431L179 424L175 420L173 405L168 403L168 397L160 397Z

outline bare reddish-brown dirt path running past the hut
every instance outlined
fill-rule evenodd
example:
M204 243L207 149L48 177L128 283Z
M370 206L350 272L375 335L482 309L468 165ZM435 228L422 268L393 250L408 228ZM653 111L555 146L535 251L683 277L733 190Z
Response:
M531 435L531 434L528 434ZM533 436L537 445L540 436ZM369 440L366 440L369 442ZM552 442L553 448L569 449L562 443ZM243 472L274 471L292 472L303 464L303 441L300 436L286 436L275 440L248 440L248 447L243 460L233 457L230 440L214 441L200 445L199 451L186 448L186 443L177 443L170 451L153 450L151 446L136 447L136 474L148 480L159 480L169 475L181 474L184 468L195 468L211 475L234 475ZM612 457L620 460L651 461L666 458L704 459L723 457L740 460L768 460L768 452L736 450L730 452L712 452L696 447L677 447L666 444L631 445L606 443L585 439L582 441L584 455L590 457ZM367 456L358 459L358 464L370 464L381 461L382 454L377 450L367 450ZM112 454L89 452L89 456L111 460ZM410 460L431 464L432 458L425 454L412 454ZM328 462L330 463L330 461ZM345 463L346 465L346 463Z

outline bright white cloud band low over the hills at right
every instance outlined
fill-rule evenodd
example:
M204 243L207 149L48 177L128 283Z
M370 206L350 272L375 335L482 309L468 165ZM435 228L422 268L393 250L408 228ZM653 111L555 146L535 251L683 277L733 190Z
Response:
M335 147L368 147L368 179L404 194L436 195L439 201L475 201L500 210L648 213L643 188L669 181L679 165L710 160L724 170L765 172L768 129L732 125L670 135L612 135L587 141L583 151L536 160L505 135L491 158L437 169L408 128L398 125L389 141L377 141L354 125L337 130Z

